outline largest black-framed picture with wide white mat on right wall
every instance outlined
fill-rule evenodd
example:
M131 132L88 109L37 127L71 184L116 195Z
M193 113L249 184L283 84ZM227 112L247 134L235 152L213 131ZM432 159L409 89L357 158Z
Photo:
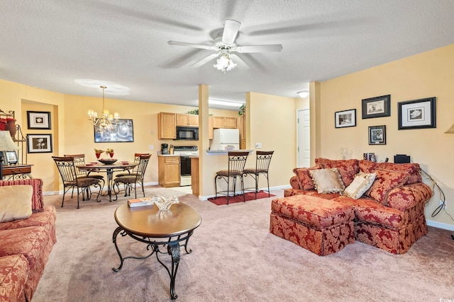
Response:
M397 103L399 130L436 128L435 97Z

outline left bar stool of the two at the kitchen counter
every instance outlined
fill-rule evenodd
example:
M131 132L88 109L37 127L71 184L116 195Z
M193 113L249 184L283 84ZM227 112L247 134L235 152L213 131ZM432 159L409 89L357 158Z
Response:
M227 204L228 204L228 197L231 192L230 190L230 180L233 179L233 196L236 196L236 180L240 178L241 182L241 192L244 197L244 202L246 201L246 196L244 194L244 182L243 182L243 174L244 174L244 166L246 160L248 159L249 152L248 151L229 151L228 152L228 168L227 170L220 170L216 172L216 176L214 176L214 190L216 190L216 197L218 194L226 195ZM227 182L227 190L219 191L217 187L216 180L225 180Z

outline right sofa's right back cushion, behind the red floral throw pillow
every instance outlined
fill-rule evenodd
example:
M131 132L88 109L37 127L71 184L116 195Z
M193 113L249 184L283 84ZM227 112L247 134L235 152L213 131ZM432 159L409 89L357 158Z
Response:
M406 180L406 184L421 182L421 174L419 174L421 167L419 163L375 163L361 160L359 161L359 166L360 171L365 173L374 173L377 169L408 173L409 178Z

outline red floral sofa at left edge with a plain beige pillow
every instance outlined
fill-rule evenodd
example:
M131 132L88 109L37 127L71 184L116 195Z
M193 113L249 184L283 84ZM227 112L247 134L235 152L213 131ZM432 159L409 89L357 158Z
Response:
M57 241L56 216L44 207L43 180L0 180L0 301L33 298Z

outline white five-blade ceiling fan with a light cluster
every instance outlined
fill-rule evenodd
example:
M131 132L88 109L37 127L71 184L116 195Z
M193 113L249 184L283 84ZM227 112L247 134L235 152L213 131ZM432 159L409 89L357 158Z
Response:
M216 53L210 54L208 57L204 57L204 59L201 59L190 66L193 68L200 67L210 62L212 59L218 57L216 64L214 64L214 67L218 70L223 71L224 74L226 73L226 71L230 71L231 69L236 67L236 64L233 63L232 58L238 60L238 62L242 62L243 64L245 64L245 66L248 66L248 64L246 64L243 59L232 52L280 52L282 50L282 45L280 44L244 46L236 44L235 39L238 35L240 25L241 23L239 23L238 21L226 20L222 35L219 35L218 37L216 37L216 39L214 39L213 45L194 44L178 41L168 41L167 43L169 45L201 48L202 50L214 50Z

